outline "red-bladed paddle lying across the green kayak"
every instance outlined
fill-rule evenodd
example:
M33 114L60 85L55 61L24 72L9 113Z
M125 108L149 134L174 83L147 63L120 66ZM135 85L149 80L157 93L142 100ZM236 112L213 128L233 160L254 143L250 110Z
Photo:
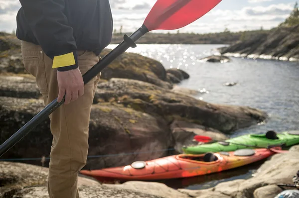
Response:
M252 148L266 148L266 147L261 147L261 146L256 146L256 145L247 145L247 144L241 144L241 143L235 143L235 142L226 142L226 141L218 141L218 140L214 140L208 136L201 136L201 135L195 135L194 139L198 142L203 142L203 143L208 143L211 141L217 141L219 144L223 145L223 146L229 146L230 144L235 144L235 145L240 145L240 146L246 146L246 147L252 147ZM270 145L267 148L270 149L273 152L276 153L287 153L289 151L286 150L278 150L272 147L278 147L278 146L283 146L283 144L280 145Z

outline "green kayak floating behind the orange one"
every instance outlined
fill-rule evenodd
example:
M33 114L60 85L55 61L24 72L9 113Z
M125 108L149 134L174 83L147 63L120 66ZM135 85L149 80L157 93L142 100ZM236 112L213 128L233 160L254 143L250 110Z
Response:
M249 134L211 144L183 147L184 153L202 154L206 152L235 151L244 148L267 148L271 145L292 146L299 144L299 131L284 131L276 133L268 131L266 134Z

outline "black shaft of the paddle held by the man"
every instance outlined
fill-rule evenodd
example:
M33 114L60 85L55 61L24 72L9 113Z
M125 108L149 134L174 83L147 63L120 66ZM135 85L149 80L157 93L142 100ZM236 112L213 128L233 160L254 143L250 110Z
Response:
M130 47L136 47L135 42L148 32L146 26L140 27L136 32L129 36L124 35L124 41L119 44L115 49L109 52L102 60L94 65L83 75L84 84L88 83L98 73L105 69L114 59L124 53ZM11 147L18 143L23 137L25 137L34 127L36 127L41 121L45 120L54 110L56 110L61 104L64 103L64 97L61 102L57 102L57 98L49 103L43 110L37 113L30 121L22 126L17 132L15 132L10 138L8 138L3 144L0 145L0 157L6 153Z

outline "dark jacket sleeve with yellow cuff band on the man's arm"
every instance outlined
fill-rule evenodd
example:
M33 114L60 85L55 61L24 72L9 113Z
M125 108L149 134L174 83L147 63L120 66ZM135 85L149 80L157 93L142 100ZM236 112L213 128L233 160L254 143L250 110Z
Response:
M73 29L63 13L64 0L19 0L36 40L53 60L52 68L67 71L78 67Z

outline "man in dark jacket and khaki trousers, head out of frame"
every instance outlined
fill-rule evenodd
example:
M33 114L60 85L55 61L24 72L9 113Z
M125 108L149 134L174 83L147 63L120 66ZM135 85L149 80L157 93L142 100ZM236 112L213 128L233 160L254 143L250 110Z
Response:
M51 115L53 135L48 193L78 198L78 171L86 164L89 117L100 74L84 86L82 75L111 42L109 0L19 0L16 36L25 69L36 79L45 105L65 95Z

